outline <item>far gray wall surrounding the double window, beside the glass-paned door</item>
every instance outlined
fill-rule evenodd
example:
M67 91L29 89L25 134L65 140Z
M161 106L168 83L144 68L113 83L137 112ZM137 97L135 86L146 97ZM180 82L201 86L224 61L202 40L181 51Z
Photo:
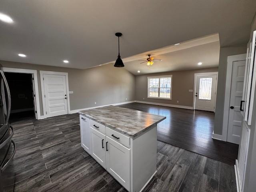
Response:
M217 71L218 67L214 67L198 70L172 71L164 73L138 75L135 77L135 98L136 100L146 102L156 102L181 106L193 106L193 92L188 92L188 90L194 89L194 74ZM172 100L147 98L147 77L161 75L172 75ZM177 100L179 101L179 103L177 103Z

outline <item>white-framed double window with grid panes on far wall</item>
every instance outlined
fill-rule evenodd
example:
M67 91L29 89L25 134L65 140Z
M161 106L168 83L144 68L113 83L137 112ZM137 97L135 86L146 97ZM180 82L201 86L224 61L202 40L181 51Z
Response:
M148 98L172 99L172 75L148 77Z

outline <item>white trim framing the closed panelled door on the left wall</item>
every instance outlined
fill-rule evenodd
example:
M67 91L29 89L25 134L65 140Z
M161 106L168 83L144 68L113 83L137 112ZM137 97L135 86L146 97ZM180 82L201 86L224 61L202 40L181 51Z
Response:
M44 112L44 118L47 118L46 115L46 106L45 106L45 100L44 100L44 80L43 80L43 74L49 74L49 75L64 75L66 76L66 90L67 90L67 99L68 99L68 114L70 114L70 100L69 100L69 88L68 88L68 73L66 72L56 72L56 71L39 71L40 72L40 81L41 81L41 90L42 90L42 102L43 102L43 112Z

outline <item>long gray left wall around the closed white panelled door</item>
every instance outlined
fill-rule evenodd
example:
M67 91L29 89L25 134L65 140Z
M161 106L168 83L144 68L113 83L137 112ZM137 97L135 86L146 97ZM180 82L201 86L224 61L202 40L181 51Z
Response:
M41 115L43 108L39 70L68 72L69 90L74 91L74 94L69 94L70 110L132 101L135 98L135 76L111 64L85 70L8 61L0 61L0 64L3 67L37 70Z

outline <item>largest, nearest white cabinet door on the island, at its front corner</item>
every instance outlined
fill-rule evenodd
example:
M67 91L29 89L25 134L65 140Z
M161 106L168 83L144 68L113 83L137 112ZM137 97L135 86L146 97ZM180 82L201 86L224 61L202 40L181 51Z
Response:
M130 149L106 136L107 171L130 191Z

